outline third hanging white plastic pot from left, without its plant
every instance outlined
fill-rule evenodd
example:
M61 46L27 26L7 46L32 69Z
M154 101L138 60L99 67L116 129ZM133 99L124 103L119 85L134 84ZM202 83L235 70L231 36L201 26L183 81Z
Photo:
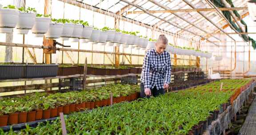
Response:
M35 24L32 28L32 33L44 34L48 31L51 23L51 18L48 17L36 17Z

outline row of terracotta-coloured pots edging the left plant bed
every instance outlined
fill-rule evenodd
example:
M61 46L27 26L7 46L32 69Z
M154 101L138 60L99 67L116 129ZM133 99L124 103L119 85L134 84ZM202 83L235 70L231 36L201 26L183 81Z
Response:
M132 101L139 98L139 96L140 96L140 93L135 92L128 96L113 97L113 103ZM103 100L94 101L94 102L73 103L65 106L51 108L48 110L35 110L35 111L29 111L29 112L17 112L9 115L1 115L0 127L18 124L18 123L32 122L40 119L49 119L52 117L59 116L60 112L63 112L64 114L71 114L73 112L84 111L86 109L109 106L111 105L110 102L111 101L109 98L109 99L103 99Z

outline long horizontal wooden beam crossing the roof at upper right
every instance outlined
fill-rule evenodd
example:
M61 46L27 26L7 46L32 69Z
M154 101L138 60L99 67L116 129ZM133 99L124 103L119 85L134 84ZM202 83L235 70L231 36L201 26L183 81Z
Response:
M219 8L220 11L248 10L248 7L239 8ZM195 8L195 9L177 9L177 10L155 10L148 11L150 13L175 13L175 12L199 12L199 11L215 11L214 8ZM143 14L143 11L129 11L128 14Z

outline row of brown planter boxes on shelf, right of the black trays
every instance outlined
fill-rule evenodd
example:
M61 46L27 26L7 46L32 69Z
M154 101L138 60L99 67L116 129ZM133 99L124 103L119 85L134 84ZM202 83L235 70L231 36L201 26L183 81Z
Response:
M140 74L142 68L131 67L127 69L108 69L87 67L87 75L126 75L126 74ZM84 66L73 67L59 67L58 75L75 75L84 74Z

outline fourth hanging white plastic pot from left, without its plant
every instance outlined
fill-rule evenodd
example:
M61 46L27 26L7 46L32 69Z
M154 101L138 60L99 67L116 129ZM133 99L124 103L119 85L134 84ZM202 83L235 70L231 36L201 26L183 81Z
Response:
M44 34L46 38L60 38L64 25L51 23L48 31Z

